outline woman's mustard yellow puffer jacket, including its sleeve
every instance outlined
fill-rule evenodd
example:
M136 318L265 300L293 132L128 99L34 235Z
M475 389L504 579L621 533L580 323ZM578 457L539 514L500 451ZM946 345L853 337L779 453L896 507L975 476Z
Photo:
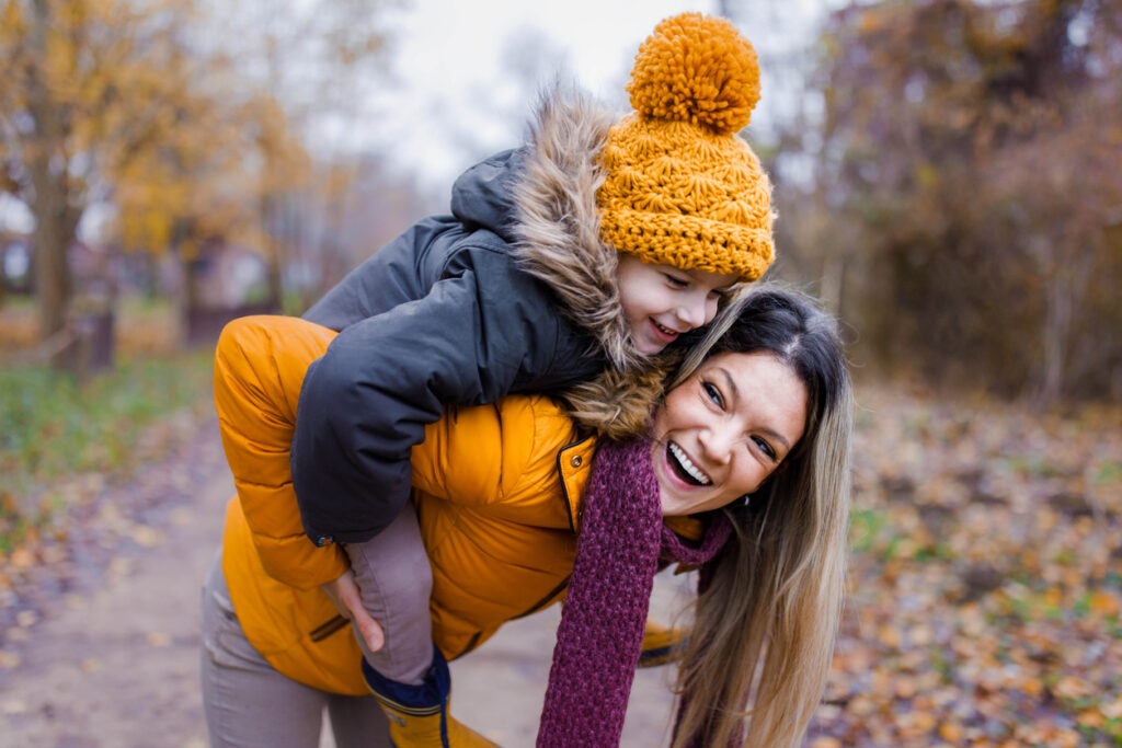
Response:
M334 335L266 316L222 332L214 399L238 491L222 567L246 636L277 671L365 694L350 626L319 589L347 560L304 535L288 462L304 372ZM453 409L426 427L412 453L413 498L433 570L433 638L445 657L560 599L595 446L543 396Z

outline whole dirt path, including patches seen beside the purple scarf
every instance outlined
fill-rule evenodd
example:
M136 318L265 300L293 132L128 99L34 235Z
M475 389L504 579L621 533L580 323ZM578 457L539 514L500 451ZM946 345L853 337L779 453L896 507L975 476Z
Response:
M84 574L45 579L37 599L0 611L0 746L206 745L200 588L232 481L214 424L196 436L101 499L98 521L82 524L96 529L80 539L102 551L84 554ZM656 583L664 617L683 584ZM453 663L453 713L507 748L532 746L559 618L516 621ZM670 674L638 674L624 746L665 744Z

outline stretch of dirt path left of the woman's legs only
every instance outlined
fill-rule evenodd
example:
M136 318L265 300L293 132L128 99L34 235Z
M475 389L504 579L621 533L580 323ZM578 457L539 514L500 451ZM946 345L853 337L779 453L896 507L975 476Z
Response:
M173 458L193 460L192 472L206 479L181 481L181 495L166 501L137 497L114 509L129 515L147 504L149 517L130 526L134 542L114 551L100 581L80 583L61 604L46 601L43 620L25 615L31 625L7 631L4 650L18 664L0 669L0 745L206 745L200 590L233 492L220 458L211 425L196 449ZM149 470L174 473L167 462Z

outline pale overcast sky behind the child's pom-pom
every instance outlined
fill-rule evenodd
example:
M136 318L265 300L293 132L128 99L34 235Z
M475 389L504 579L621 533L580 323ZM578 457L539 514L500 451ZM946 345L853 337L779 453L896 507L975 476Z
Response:
M792 102L787 55L811 44L826 11L844 1L728 4L764 62L752 137ZM387 76L371 85L369 113L359 124L321 129L310 145L374 147L443 193L478 158L518 144L534 93L555 75L623 111L635 52L655 25L717 8L715 0L402 0L386 11ZM0 194L0 225L29 230L29 220L21 204Z

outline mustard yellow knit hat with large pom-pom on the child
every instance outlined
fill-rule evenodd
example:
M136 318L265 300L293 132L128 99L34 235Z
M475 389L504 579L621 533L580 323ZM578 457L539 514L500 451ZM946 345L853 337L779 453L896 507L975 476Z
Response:
M668 18L627 93L635 112L604 150L600 238L646 262L758 278L775 255L771 183L736 136L760 99L755 49L726 20Z

